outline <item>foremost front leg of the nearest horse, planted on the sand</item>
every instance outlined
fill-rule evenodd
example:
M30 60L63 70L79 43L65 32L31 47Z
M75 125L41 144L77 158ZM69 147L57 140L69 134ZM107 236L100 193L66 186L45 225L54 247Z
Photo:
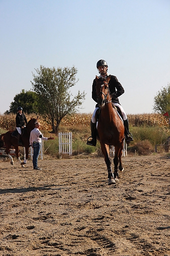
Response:
M113 173L112 173L112 162L111 162L111 159L110 159L110 154L109 154L109 145L107 144L101 144L101 151L103 153L103 155L105 156L105 163L106 163L106 166L107 166L107 169L108 169L108 185L111 185L111 184L115 184L116 181L114 179L114 176L113 176Z

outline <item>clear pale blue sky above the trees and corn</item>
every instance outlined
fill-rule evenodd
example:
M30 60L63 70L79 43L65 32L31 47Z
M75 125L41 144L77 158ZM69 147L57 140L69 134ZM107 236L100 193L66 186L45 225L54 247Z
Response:
M32 89L40 65L74 65L79 82L71 92L85 91L80 112L93 112L99 59L123 85L126 113L152 113L170 82L170 0L0 0L1 114Z

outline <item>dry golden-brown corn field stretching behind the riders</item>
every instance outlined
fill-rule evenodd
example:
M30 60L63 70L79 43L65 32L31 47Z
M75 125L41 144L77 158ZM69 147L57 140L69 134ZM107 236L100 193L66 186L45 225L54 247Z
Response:
M34 114L25 115L27 121L31 118L36 118ZM74 114L65 116L61 120L61 126L90 126L92 113L89 114ZM15 114L0 115L0 128L5 130L15 129ZM161 114L136 114L128 115L130 126L169 126L168 119ZM38 118L41 124L41 130L52 130L51 125L47 123L42 116Z

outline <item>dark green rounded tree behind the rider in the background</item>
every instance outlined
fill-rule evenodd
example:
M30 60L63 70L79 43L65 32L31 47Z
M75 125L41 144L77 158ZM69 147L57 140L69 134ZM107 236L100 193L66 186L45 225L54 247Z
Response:
M38 113L38 95L33 91L25 91L22 89L21 93L14 96L14 101L10 104L10 110L6 114L17 113L17 108L22 107L27 114Z

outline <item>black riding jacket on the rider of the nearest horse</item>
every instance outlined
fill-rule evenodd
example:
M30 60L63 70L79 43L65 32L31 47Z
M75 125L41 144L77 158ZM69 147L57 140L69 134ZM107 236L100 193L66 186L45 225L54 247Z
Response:
M112 102L119 103L118 97L124 93L123 86L119 83L118 79L114 75L110 75L110 81L109 81L108 85L109 85L110 94L112 94ZM96 95L96 80L95 79L94 79L93 85L92 85L92 99L98 103L97 95ZM96 108L99 108L98 104L96 104Z

